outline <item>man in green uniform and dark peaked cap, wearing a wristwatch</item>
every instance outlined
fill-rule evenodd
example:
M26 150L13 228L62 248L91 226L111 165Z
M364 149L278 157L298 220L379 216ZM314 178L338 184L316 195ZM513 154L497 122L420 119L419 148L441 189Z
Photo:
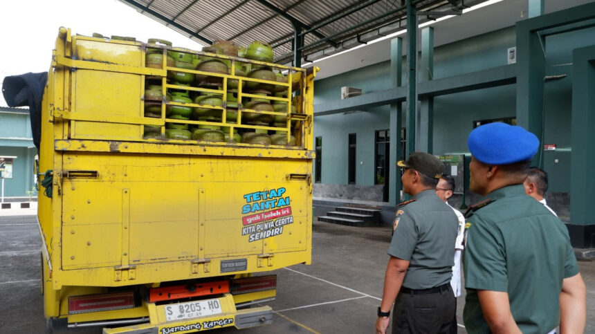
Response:
M403 192L413 198L397 208L376 333L385 333L393 303L392 333L449 333L455 317L452 245L459 221L434 190L444 165L423 152L398 165L405 169Z

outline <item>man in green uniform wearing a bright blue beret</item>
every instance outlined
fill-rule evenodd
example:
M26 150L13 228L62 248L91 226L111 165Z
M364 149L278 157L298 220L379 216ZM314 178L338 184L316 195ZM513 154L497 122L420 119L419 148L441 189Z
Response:
M498 122L474 129L468 146L469 188L485 198L466 213L466 330L583 333L585 283L567 228L522 184L539 140Z

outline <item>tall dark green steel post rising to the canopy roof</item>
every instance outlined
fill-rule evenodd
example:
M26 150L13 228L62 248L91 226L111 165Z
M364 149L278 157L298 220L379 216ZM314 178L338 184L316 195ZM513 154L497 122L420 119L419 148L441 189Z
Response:
M416 149L415 115L417 114L417 10L412 0L407 0L407 154Z

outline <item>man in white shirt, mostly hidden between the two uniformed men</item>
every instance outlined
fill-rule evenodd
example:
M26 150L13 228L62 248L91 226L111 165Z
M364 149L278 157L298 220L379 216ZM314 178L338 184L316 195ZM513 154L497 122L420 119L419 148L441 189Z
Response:
M443 175L440 180L438 180L438 185L436 186L436 194L442 201L444 201L448 206L448 198L452 196L452 192L455 190L455 178L450 175ZM463 251L463 236L465 232L465 217L459 210L455 209L454 207L450 207L452 211L455 212L457 215L457 219L459 219L459 230L457 232L457 240L455 241L455 266L452 266L452 279L450 280L450 286L452 287L452 292L455 293L455 297L459 297L461 295L461 252ZM456 304L455 304L456 305ZM450 333L457 333L457 314L455 313L455 319L452 320L452 326L450 326Z

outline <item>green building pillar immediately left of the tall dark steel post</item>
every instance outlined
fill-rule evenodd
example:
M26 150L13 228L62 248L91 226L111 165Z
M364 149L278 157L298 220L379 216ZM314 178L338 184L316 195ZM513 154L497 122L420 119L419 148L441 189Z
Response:
M402 86L401 77L403 77L403 38L396 37L390 41L390 81L393 89ZM401 169L396 166L396 162L403 157L401 147L402 115L402 102L390 104L390 168L388 169L390 205L401 202Z

